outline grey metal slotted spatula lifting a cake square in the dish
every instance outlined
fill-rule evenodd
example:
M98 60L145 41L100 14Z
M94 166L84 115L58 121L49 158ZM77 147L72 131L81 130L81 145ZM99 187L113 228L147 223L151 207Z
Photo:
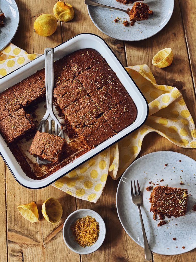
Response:
M42 132L45 132L45 122L48 121L48 133L52 134L52 122L55 122L55 135L64 138L64 132L61 127L59 120L56 118L53 112L53 90L54 90L54 49L53 48L45 48L45 89L46 89L46 112L44 117L42 118L38 131L42 128ZM60 133L59 133L60 129ZM41 160L37 157L37 163L39 165L44 165L51 163L46 159Z

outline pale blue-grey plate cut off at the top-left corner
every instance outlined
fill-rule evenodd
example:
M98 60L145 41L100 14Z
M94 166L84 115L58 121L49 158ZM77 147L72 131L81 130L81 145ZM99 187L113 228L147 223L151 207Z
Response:
M0 9L5 14L4 26L0 27L0 51L15 36L19 26L19 12L14 0L0 0Z

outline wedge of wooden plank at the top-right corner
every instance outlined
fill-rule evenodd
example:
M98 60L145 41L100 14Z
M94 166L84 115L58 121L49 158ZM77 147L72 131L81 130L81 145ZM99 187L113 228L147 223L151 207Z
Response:
M185 37L188 47L189 62L193 77L193 83L196 89L196 36L195 36L195 10L196 2L189 0L179 0Z

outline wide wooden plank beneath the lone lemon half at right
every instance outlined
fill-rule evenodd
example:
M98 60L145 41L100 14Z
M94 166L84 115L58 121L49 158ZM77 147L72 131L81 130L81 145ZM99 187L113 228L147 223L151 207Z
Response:
M128 65L134 65L135 61L138 64L146 63L149 65L157 83L178 86L195 121L195 107L189 106L195 104L195 94L190 67L187 65L188 54L178 1L175 1L171 20L161 32L142 42L126 42L125 47ZM174 61L168 68L156 68L151 64L152 58L155 53L165 47L171 47L173 50ZM159 150L180 152L196 160L196 149L180 148L154 132L148 134L143 140L140 156ZM188 255L187 253L176 256L153 254L154 262L195 261L195 259L196 250L189 252Z

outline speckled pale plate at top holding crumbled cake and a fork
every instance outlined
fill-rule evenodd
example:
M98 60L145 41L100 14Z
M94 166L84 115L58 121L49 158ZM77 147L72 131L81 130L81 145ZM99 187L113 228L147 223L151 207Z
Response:
M105 0L93 0L100 4L106 4ZM174 9L174 0L145 0L153 15L145 21L138 21L134 26L123 25L124 20L129 21L129 16L121 11L112 9L88 6L88 12L91 20L99 30L104 34L123 41L139 41L157 34L168 23ZM132 8L133 4L124 5L116 0L108 0L107 6L113 6L121 9ZM118 17L119 21L114 22Z

